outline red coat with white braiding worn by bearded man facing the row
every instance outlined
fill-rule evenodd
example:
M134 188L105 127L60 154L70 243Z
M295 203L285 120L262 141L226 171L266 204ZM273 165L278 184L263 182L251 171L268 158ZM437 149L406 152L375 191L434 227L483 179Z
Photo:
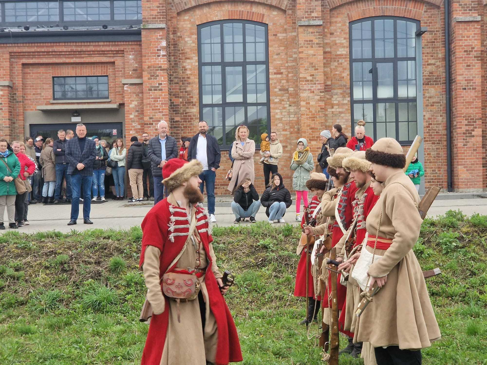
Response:
M175 228L172 230L172 233L168 230L171 217L170 209L174 210L173 207L166 198L157 203L142 221L142 253L140 255L139 266L142 266L144 263L146 247L157 247L161 251L159 268L161 278L168 269L171 271L176 266L174 264L173 267L169 268L171 262L183 250L188 237L188 228ZM239 362L243 359L237 329L235 328L230 310L226 306L225 299L220 292L215 276L211 271L212 260L209 244L213 241L213 238L208 232L207 221L204 222L206 214L199 206L196 207L196 216L200 216L197 219L196 228L203 243L208 261L205 275L206 290L210 301L210 310L215 317L218 327L218 347L215 363L217 365L226 365L230 362ZM181 222L184 221L178 220L178 224L181 224ZM186 220L186 223L189 222ZM178 235L185 232L186 234ZM167 299L165 298L165 300ZM169 305L166 303L164 312L158 315L153 314L150 320L149 333L147 334L146 345L142 355L142 365L160 364L164 343L166 341L168 323Z

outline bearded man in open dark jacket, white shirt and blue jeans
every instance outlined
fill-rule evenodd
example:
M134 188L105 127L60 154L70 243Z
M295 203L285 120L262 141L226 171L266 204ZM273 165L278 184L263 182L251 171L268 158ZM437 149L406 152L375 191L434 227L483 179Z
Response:
M199 176L202 181L200 190L203 194L206 185L210 222L215 223L215 179L222 154L216 138L208 134L208 124L204 120L198 123L198 130L200 132L195 134L189 142L187 161L198 160L203 165L203 172Z

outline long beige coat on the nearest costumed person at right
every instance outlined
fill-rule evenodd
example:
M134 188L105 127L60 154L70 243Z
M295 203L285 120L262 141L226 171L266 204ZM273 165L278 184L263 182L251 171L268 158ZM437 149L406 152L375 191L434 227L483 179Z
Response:
M422 223L417 211L419 196L402 170L393 173L384 186L366 224L369 236L393 240L388 250L375 251L382 258L368 271L372 277L387 275L387 282L358 318L354 342L400 349L430 347L441 334L423 273L412 252ZM368 246L366 249L374 251Z

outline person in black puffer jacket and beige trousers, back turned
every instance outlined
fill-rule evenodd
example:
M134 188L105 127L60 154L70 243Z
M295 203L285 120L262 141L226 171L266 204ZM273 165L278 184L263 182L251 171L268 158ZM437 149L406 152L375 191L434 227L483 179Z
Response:
M133 136L130 139L132 145L127 153L127 170L129 171L130 186L132 188L132 199L130 203L136 201L143 201L144 198L144 184L142 176L144 174L144 166L142 159L146 157L146 149L139 142L139 139Z

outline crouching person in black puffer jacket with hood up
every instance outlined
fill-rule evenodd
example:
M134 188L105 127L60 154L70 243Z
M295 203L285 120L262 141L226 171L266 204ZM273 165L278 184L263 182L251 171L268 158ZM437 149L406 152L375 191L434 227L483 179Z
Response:
M275 173L272 175L271 186L265 189L261 197L262 206L267 208L265 214L269 217L269 223L274 223L276 220L285 223L284 213L292 202L289 190L282 183L281 174Z

